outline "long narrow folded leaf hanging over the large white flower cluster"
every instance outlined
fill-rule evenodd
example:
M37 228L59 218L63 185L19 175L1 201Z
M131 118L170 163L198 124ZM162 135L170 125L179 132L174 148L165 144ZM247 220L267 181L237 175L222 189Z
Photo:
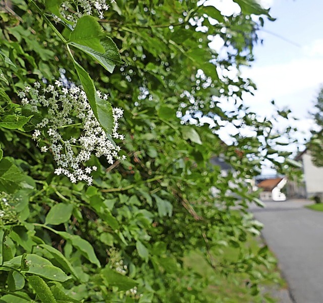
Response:
M74 61L74 66L97 121L107 134L111 134L114 128L111 104L99 98L94 83L84 68L76 61Z

